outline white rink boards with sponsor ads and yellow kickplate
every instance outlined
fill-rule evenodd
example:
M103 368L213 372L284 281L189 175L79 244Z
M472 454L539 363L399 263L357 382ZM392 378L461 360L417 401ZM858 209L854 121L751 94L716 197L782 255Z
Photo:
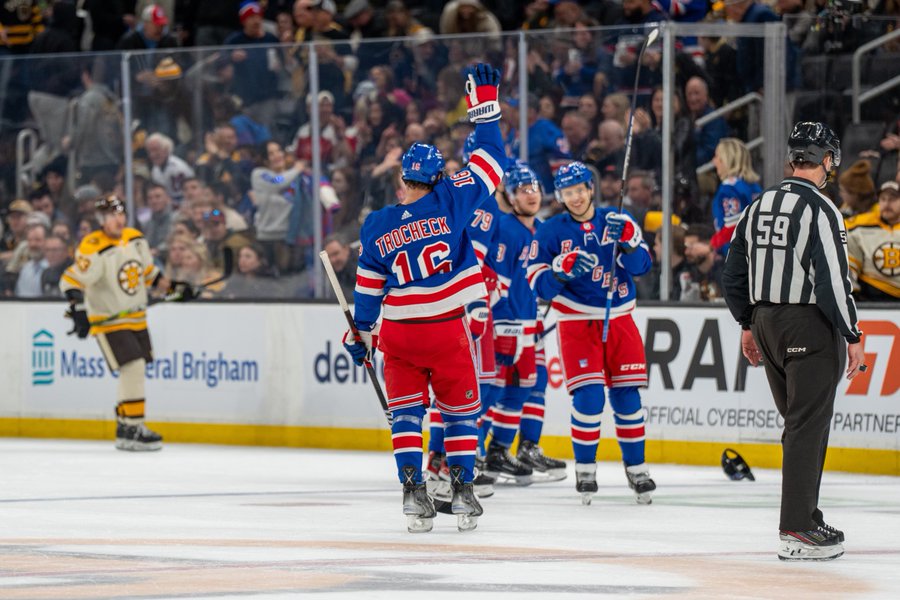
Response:
M96 342L66 335L63 312L59 303L0 304L0 434L111 435L115 374ZM148 315L156 360L147 413L167 439L389 448L366 373L341 347L337 307L160 305ZM708 464L734 445L754 464L776 464L782 422L763 369L740 357L740 330L724 306L639 307L634 318L650 374L648 458ZM839 386L829 466L900 474L900 311L863 309L860 318L870 369ZM546 343L543 444L571 457L556 334ZM607 406L601 455L616 454L614 436Z

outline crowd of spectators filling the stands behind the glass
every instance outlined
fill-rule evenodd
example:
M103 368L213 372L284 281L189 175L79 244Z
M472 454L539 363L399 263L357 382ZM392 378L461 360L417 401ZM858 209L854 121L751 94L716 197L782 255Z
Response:
M217 278L230 249L234 273L207 296L309 298L317 283L311 267L318 233L351 293L360 224L402 194L404 149L429 142L447 159L448 173L461 167L472 131L461 73L475 60L503 68L508 154L518 156L526 137L528 162L546 196L545 215L559 210L552 173L572 159L595 169L599 203L618 202L633 116L625 207L644 226L658 257L664 226L658 46L645 54L638 109L630 114L636 50L646 24L784 19L788 90L801 85L802 57L851 52L900 24L897 0L13 4L0 7L0 54L19 58L3 61L0 69L0 295L16 297L58 295L54 278L96 228L94 200L109 191L125 196L126 151L133 156L136 226L169 278ZM529 33L527 99L518 96L518 37L506 34L518 30ZM315 97L309 41L323 42L315 45ZM752 164L759 157L744 143L758 127L758 115L738 110L697 125L747 92L765 93L762 49L761 39L680 38L676 44L672 299L721 298L723 240L760 185L773 183L759 182ZM121 80L120 55L112 50L132 52L130 81ZM886 45L880 52L897 50L897 44ZM47 56L52 53L60 57ZM27 54L36 56L24 60ZM125 84L130 123L121 101ZM526 132L519 131L522 105ZM828 190L848 223L860 214L877 215L876 190L900 181L900 106L878 106L884 113L880 143L845 156L839 185ZM24 127L38 131L40 145L19 157L30 160L23 171L16 169L15 140ZM323 168L319 181L311 168L314 138ZM887 195L893 190L888 186ZM885 235L893 231L891 225ZM641 282L643 297L659 297L658 275L657 265Z

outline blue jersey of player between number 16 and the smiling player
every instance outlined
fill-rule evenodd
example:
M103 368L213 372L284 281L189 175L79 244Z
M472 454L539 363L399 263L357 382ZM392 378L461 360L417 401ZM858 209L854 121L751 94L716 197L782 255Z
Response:
M539 225L537 219L535 225ZM513 321L526 328L535 327L537 297L528 284L527 269L536 257L534 232L515 215L504 214L500 218L495 254L500 289L500 300L493 308L495 322Z

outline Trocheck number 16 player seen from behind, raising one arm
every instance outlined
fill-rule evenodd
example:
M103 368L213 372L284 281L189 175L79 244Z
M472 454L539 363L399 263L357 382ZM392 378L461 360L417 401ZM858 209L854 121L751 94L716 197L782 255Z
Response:
M472 486L481 403L465 307L487 290L467 226L503 176L499 83L500 73L490 65L468 70L466 103L478 149L466 168L443 179L440 152L413 144L401 162L403 199L371 213L360 231L354 291L359 336L348 331L344 344L358 364L375 348L384 354L391 438L410 532L430 531L435 514L422 479L429 385L443 416L458 528L473 529L482 514Z

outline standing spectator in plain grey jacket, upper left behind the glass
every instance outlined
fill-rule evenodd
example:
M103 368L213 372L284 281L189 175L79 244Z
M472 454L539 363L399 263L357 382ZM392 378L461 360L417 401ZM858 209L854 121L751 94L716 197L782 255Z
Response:
M81 71L82 92L75 100L74 129L62 147L75 158L75 180L86 185L99 176L112 176L122 162L122 113L119 100L92 70Z

